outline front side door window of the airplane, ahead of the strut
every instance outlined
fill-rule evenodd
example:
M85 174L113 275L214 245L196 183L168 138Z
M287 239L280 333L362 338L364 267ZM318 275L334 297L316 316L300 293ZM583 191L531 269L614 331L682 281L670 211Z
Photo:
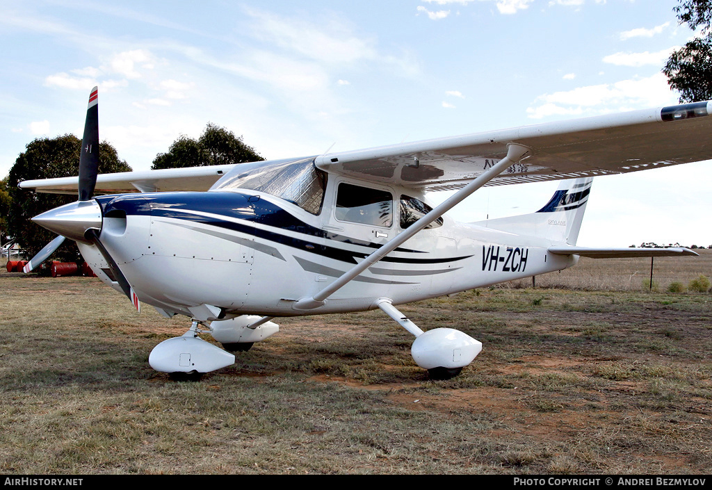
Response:
M388 228L393 224L390 192L341 182L336 196L336 219Z

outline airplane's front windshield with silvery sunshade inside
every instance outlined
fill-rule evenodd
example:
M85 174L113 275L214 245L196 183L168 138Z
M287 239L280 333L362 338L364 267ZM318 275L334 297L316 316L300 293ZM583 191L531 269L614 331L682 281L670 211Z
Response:
M314 158L276 160L236 165L214 189L251 189L281 197L298 207L319 214L324 201L326 173L314 165Z

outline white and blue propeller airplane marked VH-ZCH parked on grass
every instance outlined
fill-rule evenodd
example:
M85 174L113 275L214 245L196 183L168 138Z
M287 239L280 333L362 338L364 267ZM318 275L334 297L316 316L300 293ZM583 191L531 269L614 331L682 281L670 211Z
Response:
M97 175L91 91L78 177L21 182L79 194L34 218L135 308L192 318L157 345L152 368L199 375L278 331L276 317L380 308L415 336L431 377L459 373L481 343L424 332L401 303L558 271L579 256L694 255L576 246L592 177L712 158L712 102L266 162ZM564 179L532 214L459 223L445 212L485 185ZM425 193L459 189L432 208ZM140 192L137 192L140 191ZM105 194L94 197L97 194ZM196 263L199 262L200 273Z

